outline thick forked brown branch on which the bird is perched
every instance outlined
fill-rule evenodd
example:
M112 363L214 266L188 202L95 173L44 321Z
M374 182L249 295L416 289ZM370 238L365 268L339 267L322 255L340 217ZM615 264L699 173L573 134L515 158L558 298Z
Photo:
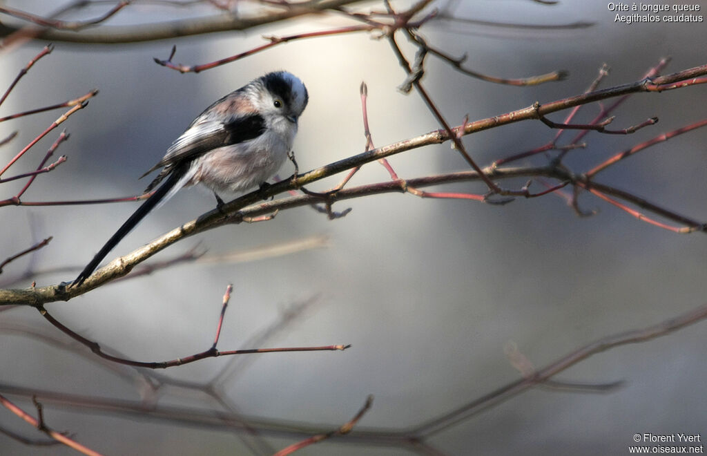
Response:
M674 74L667 76L661 76L661 83L668 83L671 81L681 81L684 78L694 78L698 74L707 74L707 65L698 66L692 69L687 69L684 71L679 71ZM554 102L545 103L536 107L532 105L530 107L523 108L521 110L516 110L513 112L508 112L504 115L498 115L495 117L489 117L488 119L477 120L476 122L465 122L459 127L451 129L451 136L458 141L458 136L463 134L472 134L476 131L483 131L485 129L490 129L493 127L498 127L503 124L511 124L515 122L520 122L521 120L527 119L537 119L537 113L542 115L547 115L549 112L555 112L558 110L568 109L583 103L590 103L594 101L604 100L607 98L612 98L615 96L626 95L627 93L636 93L645 91L645 84L648 83L648 79L642 81L637 81L635 83L628 83L622 86L616 86L613 88L607 88L604 90L597 90L590 93L584 93L582 95L577 95L574 97L563 98L562 100L556 100ZM180 228L170 231L158 238L157 240L151 242L144 247L134 250L129 255L121 257L113 262L107 264L96 271L93 276L89 277L86 282L83 283L81 287L71 287L66 288L64 285L59 284L57 286L48 286L44 288L36 288L29 290L5 290L0 291L0 304L24 304L24 305L41 305L42 303L52 302L55 300L68 300L74 296L85 293L100 284L107 281L112 281L117 279L117 277L124 276L129 273L129 271L138 263L144 261L148 257L155 255L160 250L163 250L168 245L177 242L182 238L201 233L204 230L209 230L215 228L216 226L221 226L224 223L240 223L243 221L243 217L260 216L264 214L271 214L276 209L288 209L290 207L301 206L303 204L313 204L317 202L315 197L310 197L308 195L302 197L290 197L281 199L278 201L271 201L267 203L257 204L258 201L262 201L264 198L271 197L275 194L281 192L286 192L290 189L297 189L308 185L310 182L315 182L321 180L325 177L341 173L345 170L350 170L363 163L368 163L373 160L378 160L379 158L387 158L395 153L402 153L404 151L409 151L414 148L419 148L422 146L428 146L431 144L440 144L445 141L450 140L450 132L446 130L436 130L431 131L428 134L423 134L416 136L411 139L406 139L404 141L399 141L394 144L389 144L387 146L382 146L375 148L370 151L360 153L349 158L344 158L329 165L322 166L321 168L316 168L315 170L310 170L308 173L303 175L297 175L290 180L277 182L274 185L269 186L267 189L258 190L244 195L228 204L225 204L221 211L210 211L199 219L185 223ZM481 176L484 177L481 177ZM481 173L471 172L471 173L448 173L446 175L432 176L427 179L423 178L421 180L407 180L407 185L413 185L414 187L420 187L425 185L433 185L433 182L458 182L459 180L478 180L478 179L497 179L503 177L519 177L519 176L534 176L534 177L551 177L564 182L570 180L571 182L578 182L577 177L568 173L566 170L553 167L544 168L516 168L509 170L502 170L501 168L493 169L486 168L482 170ZM650 208L651 211L658 211L657 214L661 216L667 216L669 219L674 221L679 221L679 223L686 223L684 221L689 220L679 214L670 213L670 211L665 211L665 209L659 206L652 205L648 201L642 201L638 197L626 192L621 192L618 189L612 189L611 187L597 185L595 182L583 182L585 185L592 185L592 187L597 188L600 192L604 194L609 194L614 197L619 197L625 201L629 201L633 204L644 204L646 208ZM406 182L403 181L391 181L384 182L382 184L373 186L362 186L357 187L352 192L349 190L341 190L329 197L329 201L337 201L341 199L351 199L354 197L361 197L369 194L378 194L385 192L403 192L405 191L404 185ZM520 194L520 196L526 196L527 189L523 191L515 192ZM46 203L45 203L46 204ZM246 206L251 204L256 204L253 208L244 211ZM230 214L228 218L223 217L223 213ZM702 223L696 221L689 221L686 224L694 226L703 226Z

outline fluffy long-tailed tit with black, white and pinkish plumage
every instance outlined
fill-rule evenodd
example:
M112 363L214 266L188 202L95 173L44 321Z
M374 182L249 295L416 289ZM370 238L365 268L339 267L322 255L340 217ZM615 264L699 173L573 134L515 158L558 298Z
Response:
M145 192L155 192L118 228L78 274L78 286L130 230L182 187L203 184L217 192L241 192L262 185L292 148L297 120L308 101L305 85L287 71L261 76L201 112L145 175L162 168Z

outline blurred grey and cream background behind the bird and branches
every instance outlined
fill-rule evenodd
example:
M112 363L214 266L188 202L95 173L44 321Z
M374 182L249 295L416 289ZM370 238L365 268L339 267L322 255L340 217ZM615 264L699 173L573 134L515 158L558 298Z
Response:
M243 2L241 2L243 3ZM412 2L395 1L403 9ZM703 8L703 1L695 1ZM47 15L59 2L6 1L3 5ZM244 4L245 5L245 4ZM664 73L706 64L704 23L615 23L607 2L477 0L449 4L457 18L571 28L506 28L436 20L421 33L430 45L454 56L467 54L469 68L517 78L565 69L565 81L518 88L501 86L452 69L434 57L426 61L423 83L451 124L501 115L539 100L582 93L603 63L611 73L602 87L637 81L662 57ZM100 16L97 4L71 18ZM243 8L247 8L243 6ZM381 11L375 1L356 5ZM135 4L107 25L209 16L209 5L185 8ZM242 11L248 13L247 9ZM85 15L85 16L81 16ZM346 25L340 16L314 16L250 30L133 45L76 45L55 42L2 106L4 115L100 93L62 128L71 139L60 146L68 161L41 175L24 195L27 201L110 198L139 194L148 181L137 177L206 106L267 71L286 69L308 87L310 103L300 119L294 150L300 172L364 150L358 87L368 84L368 117L376 146L438 129L416 93L397 91L404 72L390 45L366 33L288 42L267 52L200 74L180 74L158 66L177 46L174 61L202 64L258 45L262 35L284 36ZM410 59L414 48L399 35ZM28 42L1 56L0 87L6 88L44 41ZM707 87L633 95L614 112L612 127L625 128L658 116L660 122L628 136L590 133L588 146L573 151L568 165L588 170L614 153L707 115ZM23 117L0 125L0 136L19 134L0 148L0 162L47 127L63 111ZM549 116L561 122L567 112ZM576 123L597 114L585 107ZM60 129L35 146L13 170L33 170ZM521 122L464 137L477 163L542 146L555 134L540 122ZM569 138L574 134L569 134ZM696 220L707 221L707 130L696 130L653 146L602 173L597 181L626 189ZM543 156L519 165L544 164ZM467 169L449 144L429 146L390 158L401 177ZM279 175L291 175L286 163ZM317 182L312 190L335 185L343 175ZM387 172L366 165L351 185L381 182ZM524 180L504 181L518 188ZM23 182L2 185L10 197ZM439 187L484 192L478 183ZM535 183L531 189L542 189ZM259 419L293 421L334 429L351 419L368 394L373 407L356 431L402 430L472 402L520 378L504 346L518 349L542 366L596 339L656 324L702 305L707 245L703 233L677 235L632 218L590 194L580 206L597 210L580 218L555 195L518 199L506 206L474 201L419 199L384 194L334 205L346 217L327 220L308 207L283 211L272 221L226 226L179 242L153 257L168 259L197 247L207 255L297 242L312 236L322 245L252 262L181 264L149 276L120 281L73 299L47 305L49 312L83 336L129 358L163 361L207 349L213 341L228 283L233 296L219 348L351 344L344 352L272 353L239 359L212 358L160 371L173 380L216 386L231 411ZM11 281L28 267L54 274L33 276L11 288L73 279L136 208L136 203L95 206L4 207L0 258L53 236L49 246L5 267ZM209 192L177 194L120 243L108 257L131 252L180 224L214 209ZM283 312L307 303L279 331L267 328ZM23 329L25 328L25 329ZM258 334L269 338L246 345ZM35 334L36 333L36 334ZM56 339L42 341L40 335ZM603 384L624 380L611 392L532 389L445 428L428 444L447 455L466 454L624 454L634 433L707 431L707 326L698 323L653 341L592 356L557 380ZM209 411L221 405L203 393L177 387L151 396L134 382L130 369L110 368L91 356L67 351L69 339L32 308L0 312L0 382L4 385L86 394L156 407ZM79 350L81 353L87 350ZM126 374L129 373L129 374ZM6 394L6 391L0 393ZM28 399L7 394L28 411ZM40 401L42 398L40 397ZM59 431L109 455L267 454L301 440L293 435L243 438L218 426L110 414L45 405L45 419ZM16 416L0 411L0 426L41 438ZM354 441L352 434L351 441ZM255 441L256 443L252 443ZM249 443L250 442L250 443ZM249 445L251 448L249 448ZM258 448L252 450L252 447ZM62 446L29 447L0 435L2 455L69 455ZM391 448L346 438L301 450L303 455L405 455Z

